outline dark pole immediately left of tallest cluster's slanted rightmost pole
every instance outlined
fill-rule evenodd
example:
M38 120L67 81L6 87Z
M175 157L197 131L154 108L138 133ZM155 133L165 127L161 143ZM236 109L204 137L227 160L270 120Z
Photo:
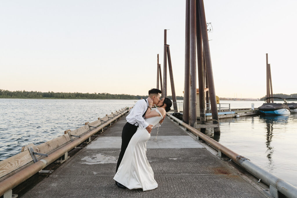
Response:
M202 34L198 13L198 4L196 5L196 40L197 40L197 64L198 64L198 88L199 88L199 109L200 123L205 123L205 92L204 92L204 68L203 68L203 49ZM202 129L203 130L203 129Z

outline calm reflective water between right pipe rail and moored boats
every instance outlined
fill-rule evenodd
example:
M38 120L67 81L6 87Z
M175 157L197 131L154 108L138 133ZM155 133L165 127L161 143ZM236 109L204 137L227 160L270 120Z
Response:
M206 134L253 163L297 186L297 114L220 120L220 135Z

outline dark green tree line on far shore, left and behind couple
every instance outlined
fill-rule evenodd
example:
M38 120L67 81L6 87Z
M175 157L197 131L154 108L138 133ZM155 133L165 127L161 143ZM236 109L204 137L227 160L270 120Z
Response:
M0 89L0 98L35 98L35 99L145 99L148 96L109 93L67 93L67 92L40 92L40 91L8 91ZM167 96L172 100L172 96ZM183 96L176 96L177 100L183 100Z

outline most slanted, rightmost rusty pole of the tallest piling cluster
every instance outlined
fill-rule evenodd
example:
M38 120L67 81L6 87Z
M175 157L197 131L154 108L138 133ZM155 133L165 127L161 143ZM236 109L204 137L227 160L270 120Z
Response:
M210 103L211 103L212 123L218 124L219 123L219 115L218 115L218 109L217 109L216 92L214 89L214 76L212 74L211 57L210 57L210 49L209 49L209 43L208 43L208 34L207 34L204 3L203 3L203 0L198 0L198 1L199 1L198 12L199 12L199 18L200 18L202 41L203 41L203 51L204 51L204 56L205 56L205 66L206 66L206 72L207 72L209 97L210 97ZM219 127L214 128L214 134L220 134Z

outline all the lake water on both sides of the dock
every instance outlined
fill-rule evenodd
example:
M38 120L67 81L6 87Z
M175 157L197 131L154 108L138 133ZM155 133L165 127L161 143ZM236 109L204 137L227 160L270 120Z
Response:
M263 104L262 101L220 102L230 103L231 108ZM24 145L41 144L67 129L74 130L87 121L134 104L135 100L0 99L0 161L19 153ZM211 130L207 133L297 186L297 114L221 119L220 129L220 136L214 136Z

